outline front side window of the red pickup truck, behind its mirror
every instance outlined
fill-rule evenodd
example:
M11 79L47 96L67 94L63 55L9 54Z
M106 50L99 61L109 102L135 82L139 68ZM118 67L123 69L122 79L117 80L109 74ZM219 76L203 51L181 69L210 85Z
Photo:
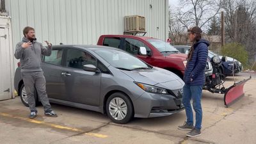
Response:
M146 47L147 53L150 52L149 47L140 40L135 40L133 38L125 38L124 51L137 55L140 54L140 47Z

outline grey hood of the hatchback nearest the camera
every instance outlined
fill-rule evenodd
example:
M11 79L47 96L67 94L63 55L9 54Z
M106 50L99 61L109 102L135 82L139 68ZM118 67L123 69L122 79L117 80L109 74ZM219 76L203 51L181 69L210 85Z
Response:
M168 70L164 70L163 68L154 67L148 70L122 70L124 74L134 79L134 81L139 83L145 83L150 85L161 84L161 87L168 88L174 90L173 88L180 88L184 85L184 82L180 77L173 74ZM172 88L170 88L169 83L173 82ZM168 83L168 84L164 84ZM166 86L165 86L166 85Z

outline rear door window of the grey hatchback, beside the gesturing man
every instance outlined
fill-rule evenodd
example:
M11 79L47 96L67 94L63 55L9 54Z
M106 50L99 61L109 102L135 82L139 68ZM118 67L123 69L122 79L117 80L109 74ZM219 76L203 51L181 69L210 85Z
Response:
M44 62L51 63L52 65L61 65L62 53L62 49L52 50L51 56L44 57Z

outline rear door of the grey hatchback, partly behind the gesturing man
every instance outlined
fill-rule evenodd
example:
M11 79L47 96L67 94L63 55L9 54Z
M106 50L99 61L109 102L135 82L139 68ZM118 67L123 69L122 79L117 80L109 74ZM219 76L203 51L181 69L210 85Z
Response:
M61 90L64 81L61 79L63 69L63 49L52 49L51 56L44 56L42 69L46 80L46 91L50 98L66 100Z

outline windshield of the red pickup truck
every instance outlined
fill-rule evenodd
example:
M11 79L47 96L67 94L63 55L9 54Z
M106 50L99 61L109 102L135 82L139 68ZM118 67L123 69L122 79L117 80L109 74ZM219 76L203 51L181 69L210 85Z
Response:
M164 53L164 52L179 53L179 51L175 47L168 44L167 42L164 42L163 40L148 39L147 41L150 44L152 44L154 47L156 47L156 49L161 53Z

